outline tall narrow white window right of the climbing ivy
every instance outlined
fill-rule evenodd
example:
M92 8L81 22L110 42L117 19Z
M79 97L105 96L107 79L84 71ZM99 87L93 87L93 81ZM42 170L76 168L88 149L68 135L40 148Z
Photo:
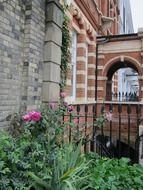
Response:
M72 32L72 52L71 52L71 97L76 97L76 51L77 51L77 33Z

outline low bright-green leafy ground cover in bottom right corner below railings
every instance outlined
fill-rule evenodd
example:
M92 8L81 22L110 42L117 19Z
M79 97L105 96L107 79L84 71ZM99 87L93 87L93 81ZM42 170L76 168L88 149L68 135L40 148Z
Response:
M90 190L143 189L143 168L129 165L127 158L96 159L93 165L89 170Z

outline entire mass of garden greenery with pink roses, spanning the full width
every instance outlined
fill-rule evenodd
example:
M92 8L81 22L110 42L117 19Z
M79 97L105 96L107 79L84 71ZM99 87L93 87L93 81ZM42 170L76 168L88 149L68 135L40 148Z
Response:
M64 96L62 94L62 96ZM2 190L142 190L143 168L128 160L82 154L81 143L64 143L67 106L50 104L39 112L16 117L12 133L0 133ZM19 122L19 123L18 123ZM13 123L14 125L15 123ZM13 135L16 131L16 135ZM62 140L58 141L59 136ZM74 139L74 138L73 138Z

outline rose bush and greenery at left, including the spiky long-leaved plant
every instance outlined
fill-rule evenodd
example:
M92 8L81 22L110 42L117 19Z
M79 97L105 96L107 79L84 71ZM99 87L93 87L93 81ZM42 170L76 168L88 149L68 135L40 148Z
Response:
M19 135L0 133L0 189L81 188L88 163L80 145L57 142L66 127L62 120L65 109L60 104L55 109L49 106L29 112L23 117Z

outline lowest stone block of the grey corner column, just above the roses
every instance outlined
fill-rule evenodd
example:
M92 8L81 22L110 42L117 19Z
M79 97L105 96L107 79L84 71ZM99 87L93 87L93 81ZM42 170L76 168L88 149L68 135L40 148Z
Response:
M59 99L60 87L58 83L43 82L42 101L55 102Z

